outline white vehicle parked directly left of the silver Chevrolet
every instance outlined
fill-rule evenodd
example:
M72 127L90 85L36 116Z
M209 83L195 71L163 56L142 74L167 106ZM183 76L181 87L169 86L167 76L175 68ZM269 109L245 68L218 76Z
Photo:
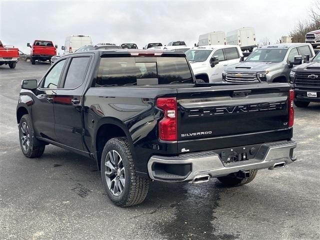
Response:
M205 82L222 81L226 66L238 63L243 56L238 45L207 45L193 47L185 52L196 79Z

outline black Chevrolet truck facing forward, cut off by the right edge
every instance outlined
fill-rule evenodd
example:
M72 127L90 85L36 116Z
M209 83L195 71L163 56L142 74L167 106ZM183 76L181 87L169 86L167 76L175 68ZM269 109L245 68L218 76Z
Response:
M320 102L320 51L309 61L292 68L290 83L294 89L294 105L306 107Z

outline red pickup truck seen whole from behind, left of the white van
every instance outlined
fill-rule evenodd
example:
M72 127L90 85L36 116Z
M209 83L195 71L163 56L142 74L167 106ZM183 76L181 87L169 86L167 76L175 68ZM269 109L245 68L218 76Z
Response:
M26 44L31 47L31 63L35 64L35 60L46 61L51 59L52 56L56 55L57 45L53 45L52 41L46 40L35 40L32 44Z

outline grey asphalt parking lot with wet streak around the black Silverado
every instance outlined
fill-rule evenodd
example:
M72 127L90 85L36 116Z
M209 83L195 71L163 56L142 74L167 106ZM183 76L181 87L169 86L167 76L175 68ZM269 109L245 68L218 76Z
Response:
M223 187L151 182L145 201L114 206L89 158L48 145L24 157L15 107L21 79L48 64L0 66L0 239L319 239L320 104L295 108L298 160Z

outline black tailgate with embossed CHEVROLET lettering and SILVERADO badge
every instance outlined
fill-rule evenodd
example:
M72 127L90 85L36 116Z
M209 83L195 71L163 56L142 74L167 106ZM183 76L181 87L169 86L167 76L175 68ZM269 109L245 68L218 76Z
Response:
M178 151L290 139L289 88L277 83L177 89Z

